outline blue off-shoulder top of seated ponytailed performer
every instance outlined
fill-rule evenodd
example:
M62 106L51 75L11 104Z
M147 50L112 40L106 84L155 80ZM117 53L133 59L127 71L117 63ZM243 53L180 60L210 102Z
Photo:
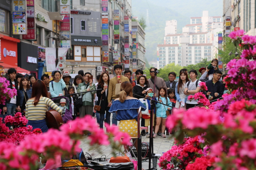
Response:
M128 99L121 103L119 100L114 100L109 112L116 112L116 119L120 120L132 120L138 118L137 109L142 107L142 111L146 110L146 106L138 99Z

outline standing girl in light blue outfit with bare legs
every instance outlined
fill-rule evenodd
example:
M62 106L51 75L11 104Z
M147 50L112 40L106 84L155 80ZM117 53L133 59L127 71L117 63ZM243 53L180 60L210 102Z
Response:
M158 98L157 101L163 104L166 104L168 106L172 106L172 103L170 102L170 100L167 98L167 92L166 92L166 88L165 87L160 87L159 91L158 91ZM157 103L156 107L157 107L157 124L155 125L155 132L153 135L153 138L157 138L157 133L159 130L159 125L162 122L162 132L165 131L165 122L167 119L167 115L166 115L166 109L167 110L171 110L172 108L165 106L163 104ZM165 134L162 133L161 134L161 138L166 138Z

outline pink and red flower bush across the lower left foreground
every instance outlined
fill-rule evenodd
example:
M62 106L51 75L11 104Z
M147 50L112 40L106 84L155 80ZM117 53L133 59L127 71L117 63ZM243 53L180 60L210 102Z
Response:
M24 122L22 118L17 113L14 118L7 117L5 121L21 125ZM32 131L32 126L9 130L4 123L0 123L0 169L37 170L41 154L52 164L59 165L61 162L57 158L60 156L70 156L81 151L79 139L88 131L91 132L91 145L111 144L113 150L121 145L130 145L128 134L119 132L118 127L109 127L108 136L89 115L62 125L60 130L49 129L43 134L40 129Z

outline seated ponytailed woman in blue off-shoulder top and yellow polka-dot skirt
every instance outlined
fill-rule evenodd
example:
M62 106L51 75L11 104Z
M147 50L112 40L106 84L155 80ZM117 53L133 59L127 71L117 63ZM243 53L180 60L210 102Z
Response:
M146 106L139 99L133 98L132 84L130 82L121 83L120 96L115 99L109 112L116 112L116 119L119 120L119 131L128 133L130 137L138 137L138 112L139 108L146 110ZM139 113L139 118L142 113ZM134 142L136 139L132 139ZM138 143L134 145L137 149Z

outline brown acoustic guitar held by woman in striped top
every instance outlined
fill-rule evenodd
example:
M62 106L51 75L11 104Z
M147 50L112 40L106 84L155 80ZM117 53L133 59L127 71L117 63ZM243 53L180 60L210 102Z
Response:
M45 120L49 129L59 129L64 124L60 113L53 109L45 112Z

